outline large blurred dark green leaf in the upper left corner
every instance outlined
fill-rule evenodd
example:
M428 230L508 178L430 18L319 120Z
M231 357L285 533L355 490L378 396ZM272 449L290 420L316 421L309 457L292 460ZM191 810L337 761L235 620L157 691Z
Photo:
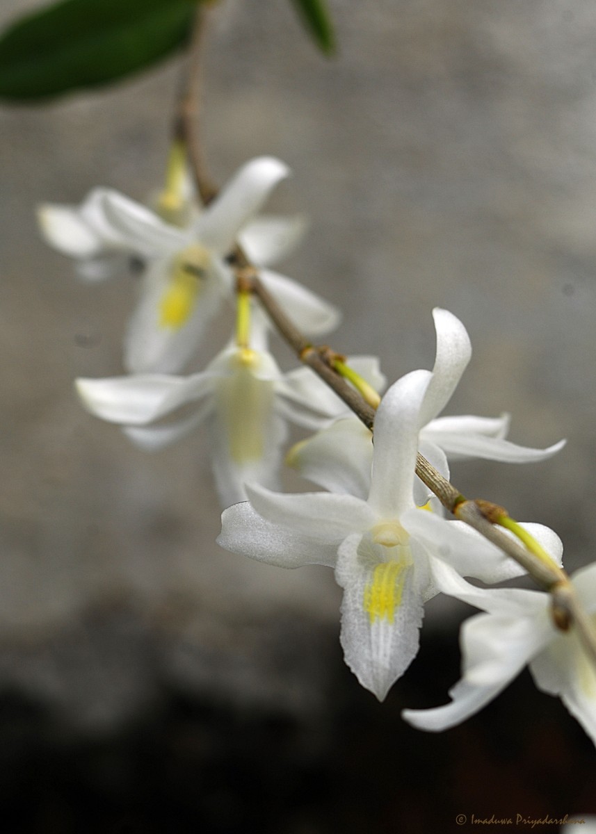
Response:
M0 96L35 99L137 72L184 44L197 0L63 0L0 38Z

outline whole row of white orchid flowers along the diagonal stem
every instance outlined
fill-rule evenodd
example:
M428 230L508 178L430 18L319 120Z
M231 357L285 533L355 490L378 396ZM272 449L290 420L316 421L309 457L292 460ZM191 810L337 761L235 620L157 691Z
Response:
M286 568L331 567L343 590L346 663L379 700L417 654L427 600L443 593L482 610L462 627L464 671L452 702L404 711L413 726L436 731L457 724L528 664L538 687L561 696L596 742L596 671L576 629L556 628L545 591L487 587L523 569L462 521L444 517L416 475L418 455L448 479L450 460L527 463L554 455L564 441L544 450L515 445L505 439L506 414L440 416L471 357L466 329L443 309L433 311L432 371L406 374L379 398L374 443L371 430L310 369L282 372L270 353L269 319L236 283L238 246L304 334L319 336L339 320L331 304L269 269L304 227L301 218L257 216L288 173L277 159L254 159L205 207L179 176L167 195L175 211L171 199L162 199L156 213L106 188L79 207L40 208L46 239L77 260L83 279L114 274L129 259L144 264L124 342L128 373L78 379L83 404L147 449L205 423L224 507L220 545ZM181 375L226 301L237 307L230 342L205 369ZM346 363L356 389L357 380L361 390L384 388L376 358ZM315 432L286 460L317 491L279 491L290 423ZM563 546L553 530L536 524L520 530L559 570ZM594 565L578 571L573 586L589 617L596 611Z

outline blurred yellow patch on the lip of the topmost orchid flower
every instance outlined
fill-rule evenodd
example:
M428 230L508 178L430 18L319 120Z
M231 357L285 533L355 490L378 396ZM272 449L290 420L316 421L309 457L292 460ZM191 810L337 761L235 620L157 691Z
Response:
M159 302L159 325L179 330L189 320L205 279L210 253L194 244L176 255L169 274L169 284Z

